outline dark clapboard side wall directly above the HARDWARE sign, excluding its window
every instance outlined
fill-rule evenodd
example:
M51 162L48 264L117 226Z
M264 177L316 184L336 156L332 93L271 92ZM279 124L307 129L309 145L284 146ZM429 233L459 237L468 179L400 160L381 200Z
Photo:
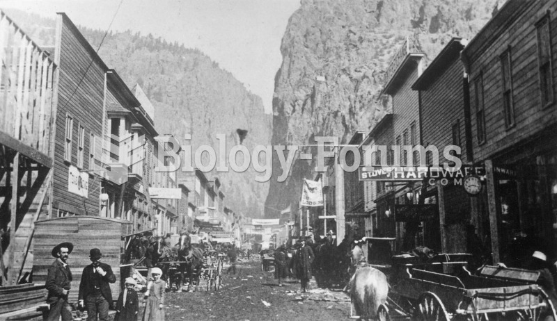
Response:
M439 75L427 90L421 91L422 139L424 147L439 149L439 165L446 162L443 149L453 144L453 124L460 127L461 160L466 156L464 92L462 90L462 61L455 57L453 63Z

